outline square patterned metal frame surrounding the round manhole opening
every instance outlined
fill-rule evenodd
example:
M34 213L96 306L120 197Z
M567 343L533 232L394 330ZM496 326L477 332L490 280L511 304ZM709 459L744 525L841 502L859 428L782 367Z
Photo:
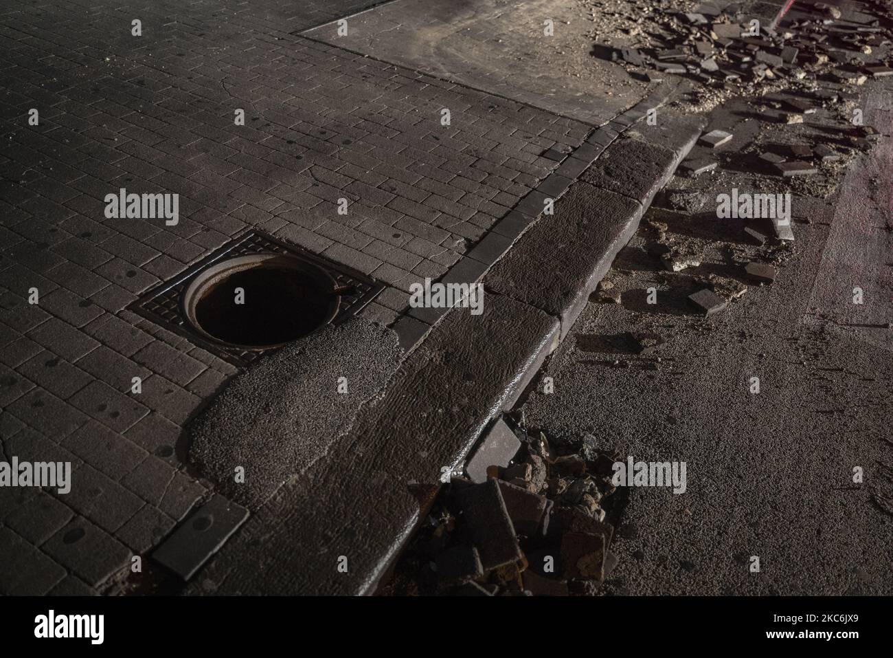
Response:
M328 258L317 256L295 244L275 238L269 233L251 229L221 248L215 249L210 256L202 258L195 265L189 266L171 280L159 283L144 292L139 299L129 305L128 309L138 314L138 316L146 318L154 325L183 336L197 347L215 354L233 366L249 366L257 359L280 350L280 348L243 350L238 347L230 348L221 343L207 340L190 327L183 308L182 297L189 283L192 283L192 280L205 268L222 259L254 254L284 254L299 258L330 274L338 282L338 286L346 287L348 290L341 295L338 313L326 325L338 325L355 316L372 299L375 299L380 291L385 289L383 283L379 283L350 267L334 263ZM321 325L315 331L319 331L326 325Z

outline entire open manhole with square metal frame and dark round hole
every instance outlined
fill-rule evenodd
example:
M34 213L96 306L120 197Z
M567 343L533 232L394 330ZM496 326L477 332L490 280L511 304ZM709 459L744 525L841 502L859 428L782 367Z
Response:
M382 288L347 267L249 232L131 308L241 366L355 315Z

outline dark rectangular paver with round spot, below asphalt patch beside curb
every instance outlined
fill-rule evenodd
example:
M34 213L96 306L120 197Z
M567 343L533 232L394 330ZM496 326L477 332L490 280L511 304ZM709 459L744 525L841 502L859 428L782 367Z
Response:
M215 493L154 550L152 559L188 580L220 550L247 516L244 507Z

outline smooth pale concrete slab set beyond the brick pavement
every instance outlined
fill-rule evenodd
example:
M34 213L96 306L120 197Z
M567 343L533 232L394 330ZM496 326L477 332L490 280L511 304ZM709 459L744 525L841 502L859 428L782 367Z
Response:
M561 0L397 0L348 19L346 36L337 22L304 35L599 125L644 97L647 85L589 54L592 15L584 10Z

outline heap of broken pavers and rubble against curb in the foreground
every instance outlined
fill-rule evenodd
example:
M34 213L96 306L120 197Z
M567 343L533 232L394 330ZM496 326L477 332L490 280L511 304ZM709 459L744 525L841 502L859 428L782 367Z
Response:
M617 559L605 506L619 454L592 436L578 451L553 445L522 420L508 431L521 444L509 466L475 475L472 460L468 477L452 477L388 593L592 595L609 576Z

